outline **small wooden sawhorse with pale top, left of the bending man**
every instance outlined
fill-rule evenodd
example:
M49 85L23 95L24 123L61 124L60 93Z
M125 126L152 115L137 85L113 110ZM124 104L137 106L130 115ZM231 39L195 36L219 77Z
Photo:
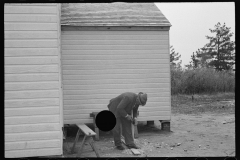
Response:
M76 124L76 125L78 126L79 129L78 129L75 141L74 141L73 146L72 146L72 153L74 152L75 145L78 142L79 134L80 134L80 132L82 132L84 134L84 138L83 138L83 141L81 143L80 149L77 153L77 157L80 157L80 155L82 153L82 150L83 150L83 147L84 147L84 145L87 141L89 142L90 146L92 147L92 149L96 153L97 157L99 157L98 151L97 151L97 149L94 145L94 140L92 138L93 136L96 135L96 133L93 132L90 128L88 128L88 126L86 126L85 124Z

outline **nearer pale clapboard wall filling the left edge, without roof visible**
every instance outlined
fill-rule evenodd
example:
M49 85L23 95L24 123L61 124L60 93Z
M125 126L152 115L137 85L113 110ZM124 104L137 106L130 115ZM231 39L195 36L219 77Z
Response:
M61 155L58 4L4 6L5 157Z

